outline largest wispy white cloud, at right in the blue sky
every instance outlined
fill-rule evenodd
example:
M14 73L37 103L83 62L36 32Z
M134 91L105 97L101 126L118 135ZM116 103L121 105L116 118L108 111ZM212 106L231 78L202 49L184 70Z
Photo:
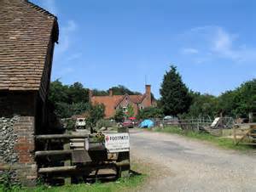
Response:
M185 44L194 48L183 48L183 54L196 54L195 60L209 60L216 58L231 59L234 62L256 61L256 48L248 48L239 44L237 34L225 31L217 25L195 27L183 34ZM183 46L184 47L184 46ZM196 51L195 51L195 50Z

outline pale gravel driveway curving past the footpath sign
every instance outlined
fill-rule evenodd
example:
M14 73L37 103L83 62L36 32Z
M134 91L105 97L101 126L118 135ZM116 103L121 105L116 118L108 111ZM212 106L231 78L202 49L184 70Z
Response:
M131 131L131 161L159 167L141 191L256 191L255 157L174 134Z

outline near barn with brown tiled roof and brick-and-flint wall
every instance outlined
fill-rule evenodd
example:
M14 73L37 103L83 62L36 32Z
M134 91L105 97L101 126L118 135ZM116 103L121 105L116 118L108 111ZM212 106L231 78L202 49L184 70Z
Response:
M55 15L26 0L0 1L0 173L36 184L35 135L47 123L46 100L59 28ZM4 127L4 128L3 128Z

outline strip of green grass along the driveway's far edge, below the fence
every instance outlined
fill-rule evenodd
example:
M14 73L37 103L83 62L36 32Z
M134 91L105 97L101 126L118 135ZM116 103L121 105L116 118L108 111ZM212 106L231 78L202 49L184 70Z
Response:
M212 136L209 133L184 131L180 127L165 127L165 128L156 127L153 130L155 132L175 133L175 134L183 135L183 136L188 137L188 138L200 139L200 140L203 140L203 141L210 142L212 144L216 144L217 146L222 147L224 149L241 150L241 151L255 150L255 148L253 148L253 146L235 145L233 143L233 139L231 139L231 138L220 138L220 137L217 137L217 136Z

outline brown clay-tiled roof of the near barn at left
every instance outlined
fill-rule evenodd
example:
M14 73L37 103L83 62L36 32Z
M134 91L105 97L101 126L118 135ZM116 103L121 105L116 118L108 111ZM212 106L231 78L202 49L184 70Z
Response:
M49 43L58 41L55 15L26 0L1 0L0 18L0 90L39 90Z

